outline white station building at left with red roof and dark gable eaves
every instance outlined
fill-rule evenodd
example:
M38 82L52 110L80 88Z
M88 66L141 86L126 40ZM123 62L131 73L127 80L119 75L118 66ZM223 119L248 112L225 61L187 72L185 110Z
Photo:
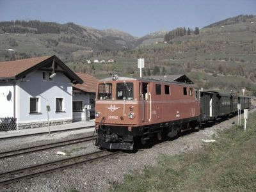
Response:
M0 118L17 129L72 122L72 85L83 83L56 56L0 62Z

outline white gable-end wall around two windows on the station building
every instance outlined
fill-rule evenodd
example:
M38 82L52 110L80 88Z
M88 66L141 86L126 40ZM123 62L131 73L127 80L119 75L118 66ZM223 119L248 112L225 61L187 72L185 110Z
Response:
M54 81L43 81L42 71L26 76L26 82L17 83L17 123L47 121L46 106L51 107L49 120L72 119L72 83L61 73L56 74ZM41 114L29 114L29 98L38 97ZM64 113L56 113L56 97L63 97Z

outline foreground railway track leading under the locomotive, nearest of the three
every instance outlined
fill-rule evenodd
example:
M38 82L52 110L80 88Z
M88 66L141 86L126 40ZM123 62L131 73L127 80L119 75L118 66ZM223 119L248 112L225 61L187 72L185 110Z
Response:
M122 151L109 152L108 150L100 150L90 154L69 157L58 161L52 161L49 163L29 166L27 168L12 170L10 172L0 173L0 186L8 187L9 184L19 182L20 180L31 179L40 175L47 175L49 173L57 172L58 170L65 170L80 164L91 163L93 161L98 161L100 159L105 159L121 153Z

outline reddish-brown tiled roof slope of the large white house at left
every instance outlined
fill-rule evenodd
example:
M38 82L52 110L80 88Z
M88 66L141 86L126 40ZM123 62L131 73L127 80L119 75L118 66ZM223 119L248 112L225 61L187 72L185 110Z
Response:
M0 62L0 78L15 77L48 58L51 58L51 56Z

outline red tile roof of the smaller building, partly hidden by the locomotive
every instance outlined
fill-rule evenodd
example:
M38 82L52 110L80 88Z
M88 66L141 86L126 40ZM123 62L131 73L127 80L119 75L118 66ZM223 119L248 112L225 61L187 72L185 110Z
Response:
M83 84L74 84L73 85L74 90L81 90L83 92L88 92L88 93L96 93L97 83L98 83L99 79L97 79L89 74L83 74L80 72L76 72L76 74L84 81L84 83Z

